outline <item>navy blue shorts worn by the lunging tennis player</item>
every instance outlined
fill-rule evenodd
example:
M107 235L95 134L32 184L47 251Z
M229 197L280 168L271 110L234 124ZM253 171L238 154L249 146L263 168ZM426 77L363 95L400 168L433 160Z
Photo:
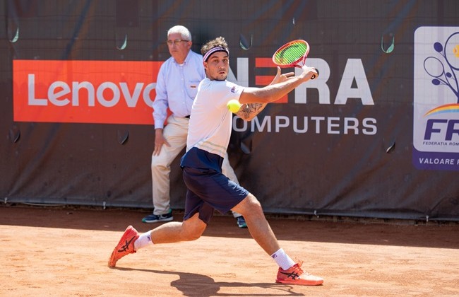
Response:
M188 188L184 220L199 212L199 219L208 224L214 209L225 214L249 194L249 191L216 170L191 167L182 169Z

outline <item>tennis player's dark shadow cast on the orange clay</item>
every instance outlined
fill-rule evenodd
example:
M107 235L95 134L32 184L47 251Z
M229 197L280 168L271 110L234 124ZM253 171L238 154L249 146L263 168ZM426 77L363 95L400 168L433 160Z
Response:
M136 269L114 267L114 269L124 271L140 271L151 272L156 274L175 274L179 279L172 281L171 286L181 291L184 296L190 297L210 297L210 296L304 296L303 293L296 293L292 291L293 286L275 283L240 283L231 281L217 281L215 282L210 276L188 273L188 272L167 272L153 269ZM246 287L246 288L260 288L266 293L218 293L223 287ZM260 290L261 291L261 290Z

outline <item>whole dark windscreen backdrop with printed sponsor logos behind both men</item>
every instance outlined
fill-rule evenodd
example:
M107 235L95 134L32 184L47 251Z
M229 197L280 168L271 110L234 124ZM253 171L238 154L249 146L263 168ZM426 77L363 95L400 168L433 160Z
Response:
M157 75L184 25L193 52L225 37L244 87L272 81L281 45L309 43L318 78L233 117L229 163L266 212L458 221L459 1L4 2L6 203L152 209ZM183 209L179 158L170 169Z

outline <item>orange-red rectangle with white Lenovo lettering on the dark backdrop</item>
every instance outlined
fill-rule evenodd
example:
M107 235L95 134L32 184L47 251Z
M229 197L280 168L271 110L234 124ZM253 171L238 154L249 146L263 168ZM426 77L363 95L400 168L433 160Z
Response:
M16 122L153 124L162 62L13 60Z

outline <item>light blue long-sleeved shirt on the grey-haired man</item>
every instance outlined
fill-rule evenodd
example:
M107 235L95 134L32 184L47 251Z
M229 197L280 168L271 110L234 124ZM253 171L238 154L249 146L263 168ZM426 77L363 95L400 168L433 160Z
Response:
M199 82L205 77L203 56L189 51L184 64L173 57L161 65L157 74L156 98L153 101L155 129L162 129L167 118L167 107L177 117L191 114L191 106L198 92Z

